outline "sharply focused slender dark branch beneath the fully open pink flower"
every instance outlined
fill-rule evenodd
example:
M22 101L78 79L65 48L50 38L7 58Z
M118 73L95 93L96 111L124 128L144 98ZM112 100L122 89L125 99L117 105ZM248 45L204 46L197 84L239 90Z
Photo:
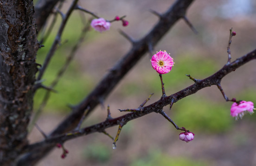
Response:
M189 86L185 89L180 90L179 92L177 92L173 95L164 97L164 100L163 100L163 98L161 98L159 101L156 101L153 104L150 104L146 107L141 107L140 111L128 113L128 114L125 114L121 117L114 118L114 119L106 119L102 123L92 125L92 126L83 128L81 130L77 130L76 132L71 132L71 133L67 133L67 134L61 134L61 135L58 135L58 136L48 137L47 139L45 139L42 142L37 142L37 143L34 143L32 145L27 146L25 150L26 151L37 150L37 149L45 146L46 144L49 145L49 146L54 146L58 142L65 142L67 140L76 138L78 136L88 135L88 134L91 134L93 132L100 132L102 130L105 130L106 128L109 128L109 127L112 127L112 126L115 126L115 125L120 125L120 122L125 124L130 120L133 120L133 119L139 118L141 116L147 115L148 113L152 113L152 112L162 113L162 109L166 105L177 102L177 101L181 100L182 98L184 98L188 95L195 94L200 89L210 87L211 85L219 84L221 79L223 77L225 77L227 74L229 74L230 72L234 71L238 67L246 64L247 62L249 62L250 60L253 60L253 59L256 59L256 50L242 56L241 58L238 58L237 60L233 61L229 65L224 65L223 68L221 68L219 71L217 71L216 73L214 73L210 77L202 79L202 82L200 82L200 84L193 84L193 85L191 85L191 86ZM162 115L164 115L164 113ZM164 117L166 118L166 116L164 116ZM168 119L168 118L166 118L166 119ZM168 120L172 123L171 119L168 119ZM179 128L174 123L172 123L172 124L178 130L183 130L184 129L184 128Z

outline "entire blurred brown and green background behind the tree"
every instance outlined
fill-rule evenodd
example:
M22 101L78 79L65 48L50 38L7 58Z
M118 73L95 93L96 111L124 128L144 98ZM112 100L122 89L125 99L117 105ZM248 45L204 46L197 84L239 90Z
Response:
M82 47L64 77L61 78L50 101L37 124L45 133L58 125L70 112L68 104L77 104L90 93L108 70L131 48L131 44L118 33L121 29L135 40L145 36L158 21L149 12L165 12L174 0L81 0L80 5L97 15L113 19L126 15L127 27L114 22L106 32L91 29ZM36 3L36 1L35 1ZM64 2L65 12L70 1ZM70 49L77 42L83 29L84 18L90 15L75 11L70 17L58 48L45 73L49 85L63 65ZM256 1L255 0L195 0L187 11L198 35L179 20L154 48L166 50L174 58L172 71L163 75L166 94L171 95L193 82L186 74L202 79L218 71L227 61L229 30L237 32L231 44L234 60L256 48ZM38 51L37 61L42 64L51 47L60 17ZM81 21L82 20L82 21ZM50 24L50 22L48 23ZM40 40L40 37L38 38ZM104 101L85 120L83 126L105 120L106 106L110 105L112 117L123 115L118 109L138 107L150 93L147 104L160 99L161 87L158 74L152 69L146 54ZM222 80L222 88L229 98L256 102L256 62L251 61ZM38 109L44 90L35 95L34 111ZM112 140L101 133L93 133L66 142L69 154L63 160L62 150L55 148L38 166L242 166L256 165L256 115L246 115L235 121L230 116L231 102L226 102L216 86L202 89L164 110L179 125L195 133L195 139L186 143L179 140L176 130L160 114L151 113L130 121L122 129L117 148L112 149ZM117 127L107 129L115 136ZM37 142L43 136L35 128L29 136Z

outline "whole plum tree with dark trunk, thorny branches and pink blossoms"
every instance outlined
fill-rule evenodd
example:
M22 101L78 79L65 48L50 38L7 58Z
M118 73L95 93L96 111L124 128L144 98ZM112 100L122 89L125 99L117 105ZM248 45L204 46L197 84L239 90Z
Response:
M160 51L153 55L154 47L166 35L173 25L179 20L185 20L186 24L196 32L188 18L186 11L194 0L176 0L173 5L164 13L152 11L158 18L158 22L154 27L139 40L134 41L123 31L120 33L132 43L132 48L124 55L112 69L102 77L101 81L96 85L83 101L76 106L71 107L72 112L57 127L52 129L51 134L46 135L32 120L31 124L38 127L38 130L45 136L45 139L28 143L27 130L31 121L33 110L33 97L35 92L43 88L47 91L44 101L39 109L43 109L45 103L49 100L49 94L54 90L59 78L63 76L64 71L70 65L75 52L83 41L84 34L90 29L90 25L97 31L103 32L109 30L112 22L122 22L122 25L128 26L126 16L116 16L113 20L107 20L97 16L95 13L88 11L78 5L78 0L72 0L66 13L61 12L63 0L39 0L34 7L31 0L6 1L1 0L0 3L0 165L1 166L30 166L35 165L38 160L48 154L52 148L56 146L63 149L62 158L65 158L69 151L64 148L64 142L85 136L94 132L102 132L113 140L113 148L116 148L118 136L122 127L128 121L140 118L149 113L160 113L167 119L177 130L184 132L179 134L179 139L190 142L194 139L194 133L179 127L173 120L163 111L163 107L169 105L170 109L173 104L188 95L195 94L198 90L204 89L211 85L216 85L226 101L234 102L231 107L231 115L233 117L242 118L245 111L253 113L253 103L248 101L237 101L229 99L221 87L221 80L230 72L238 67L245 65L249 61L256 59L256 50L231 62L230 44L232 36L236 33L230 30L230 38L228 43L228 62L216 73L204 79L195 79L187 75L194 82L191 86L186 87L172 95L166 95L162 74L171 71L173 67L173 58L166 53ZM65 25L73 11L78 10L92 16L92 21L88 22L77 44L68 56L58 76L52 82L50 87L44 85L42 78L47 67L54 56ZM92 9L93 10L93 9ZM45 26L45 22L49 19L50 13L53 15L60 14L62 22L59 26L58 33L51 45L51 49L47 53L44 63L36 63L36 53L42 47L42 41L38 41L38 32ZM54 19L53 19L54 20ZM55 21L53 21L54 23ZM129 25L130 26L130 25ZM51 31L51 28L49 28ZM105 32L107 33L107 31ZM134 67L134 65L149 52L153 57L151 59L152 66L160 74L162 96L158 101L145 106L151 95L137 108L120 109L121 112L130 112L120 117L112 118L110 116L110 108L108 107L107 119L98 124L82 128L83 120L93 112L94 108L106 99L109 93L119 83L125 74ZM36 76L36 74L38 74ZM40 112L40 111L39 111ZM36 113L39 116L39 112ZM105 129L118 125L115 137L110 136ZM177 136L178 138L178 136Z

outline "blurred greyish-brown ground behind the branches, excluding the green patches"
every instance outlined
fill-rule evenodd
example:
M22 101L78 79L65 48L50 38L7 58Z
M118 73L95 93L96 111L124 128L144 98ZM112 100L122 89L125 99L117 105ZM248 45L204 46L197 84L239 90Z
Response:
M248 1L244 0L243 3ZM205 59L213 59L219 69L227 61L226 47L231 27L237 32L237 36L233 38L231 44L231 60L252 51L256 46L256 2L251 0L251 6L245 7L242 12L239 12L238 9L239 7L243 8L243 5L234 7L230 5L230 2L236 5L236 1L233 0L195 0L187 12L187 18L199 34L193 34L185 22L180 20L154 48L154 51L166 49L167 52L171 53L174 60L177 56L182 56L183 53L191 53L192 56L204 56ZM131 47L130 43L119 35L117 30L122 29L134 39L140 39L158 20L149 12L149 9L161 13L165 12L171 4L173 4L173 0L81 1L81 6L106 19L114 18L116 15L127 15L129 21L128 27L125 28L119 23L113 23L110 31L97 34L93 41L83 45L76 57L81 65L81 70L94 73L92 80L98 83L107 70ZM68 6L69 3L65 3L65 5ZM90 53L100 55L100 57L90 56ZM142 75L157 75L151 69L149 55L141 59L105 101L105 105L110 104L113 117L123 114L119 113L118 108L138 107L152 93L147 88L147 83L143 82L141 73ZM196 75L196 73L193 74ZM225 77L222 81L222 87L228 96L233 96L248 86L255 87L255 76L255 61L252 61ZM157 79L159 78L157 77ZM120 97L123 95L120 89L125 89L128 83L138 83L145 91L132 97L129 95ZM179 89L172 89L171 92L167 93L170 95L191 84L192 81L188 79L186 85L179 87ZM158 100L160 93L160 91L155 92L149 103ZM225 102L216 87L200 90L197 95L213 101ZM169 113L167 108L166 112ZM44 114L39 119L38 125L46 133L49 133L52 127L64 119L64 116ZM84 126L96 124L105 118L106 109L97 107L86 120ZM117 126L107 131L111 135L115 135ZM170 158L182 156L192 160L207 161L207 166L253 166L256 165L256 134L254 131L255 123L239 120L231 130L223 134L209 135L202 131L195 135L192 142L186 143L179 140L179 131L175 130L163 117L151 113L124 126L115 150L111 148L112 140L100 133L94 133L66 142L65 147L70 153L64 160L60 158L61 149L55 148L38 163L38 166L129 166L134 160L147 156L152 149L158 149ZM30 135L31 142L41 139L43 137L34 129ZM111 158L106 162L90 160L84 154L84 149L88 145L97 143L109 147Z

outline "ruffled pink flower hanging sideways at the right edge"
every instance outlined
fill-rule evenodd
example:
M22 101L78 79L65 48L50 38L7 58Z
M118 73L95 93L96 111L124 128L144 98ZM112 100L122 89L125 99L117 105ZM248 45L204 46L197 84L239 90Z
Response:
M231 106L230 109L230 115L232 117L236 117L236 120L238 118L243 118L243 115L245 115L246 113L253 113L253 102L251 101L240 101L239 104L237 104L236 102L234 102Z

